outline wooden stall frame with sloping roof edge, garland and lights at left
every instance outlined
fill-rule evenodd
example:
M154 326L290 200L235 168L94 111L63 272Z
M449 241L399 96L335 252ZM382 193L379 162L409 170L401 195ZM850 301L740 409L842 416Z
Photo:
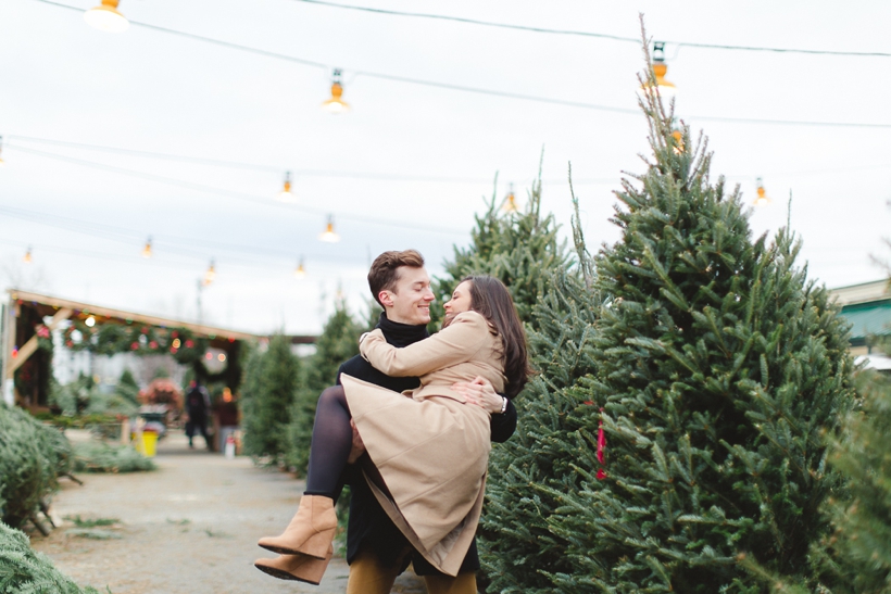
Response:
M3 305L2 312L2 333L0 333L0 353L2 354L2 390L3 400L8 404L17 404L27 408L42 408L48 404L49 378L52 372L50 368L50 355L46 350L40 349L41 341L45 344L52 342L52 332L60 328L63 323L71 320L73 324L66 326L78 326L84 329L101 328L102 326L116 326L120 332L116 336L124 336L127 329L134 329L138 336L141 329L147 336L160 337L155 340L166 340L165 346L173 341L174 346L168 347L172 354L180 349L179 341L175 339L177 332L188 334L188 344L181 346L192 347L192 341L206 344L209 349L219 350L226 353L226 368L209 378L203 365L196 365L197 377L202 380L213 379L225 381L233 390L238 390L241 382L241 366L239 353L241 343L244 341L258 341L265 337L209 326L206 324L194 324L191 321L177 320L140 314L137 312L126 312L84 303L57 296L43 295L39 293L11 289L9 299ZM149 334L151 329L151 334ZM105 336L114 334L108 332ZM142 343L146 343L143 337ZM97 339L103 339L103 334L93 337L91 347L101 349L102 344L96 344ZM290 337L292 343L312 344L315 342L314 336ZM125 339L126 340L126 339ZM156 342L152 342L152 347L159 349ZM134 342L135 351L140 349L139 342ZM101 352L101 351L100 351ZM121 351L125 352L125 351ZM180 356L183 352L180 351ZM181 362L181 358L180 358ZM199 363L199 362L197 362ZM202 371L203 370L203 371ZM203 372L203 377L202 377Z

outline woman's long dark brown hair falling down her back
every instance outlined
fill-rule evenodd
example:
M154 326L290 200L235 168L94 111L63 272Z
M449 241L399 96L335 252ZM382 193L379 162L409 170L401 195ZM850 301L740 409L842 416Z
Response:
M470 281L470 308L486 318L501 337L504 376L507 386L504 395L513 399L532 374L526 353L526 331L514 306L511 293L499 279L490 276L468 276L461 282Z

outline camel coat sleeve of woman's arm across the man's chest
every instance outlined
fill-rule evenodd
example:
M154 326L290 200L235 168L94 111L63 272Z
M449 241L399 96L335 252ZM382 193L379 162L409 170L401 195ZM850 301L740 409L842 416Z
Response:
M470 361L488 340L489 323L476 312L455 316L444 330L409 346L388 344L380 330L365 337L362 356L388 376L423 376Z

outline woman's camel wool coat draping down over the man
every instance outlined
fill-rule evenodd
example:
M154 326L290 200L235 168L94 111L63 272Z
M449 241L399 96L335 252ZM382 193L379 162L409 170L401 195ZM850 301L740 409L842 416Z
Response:
M457 574L482 509L489 464L489 413L466 404L456 381L482 376L504 391L501 339L476 312L455 316L432 337L403 349L371 332L360 351L388 376L418 376L402 394L341 376L350 413L380 471L388 497L372 491L405 538L439 571Z

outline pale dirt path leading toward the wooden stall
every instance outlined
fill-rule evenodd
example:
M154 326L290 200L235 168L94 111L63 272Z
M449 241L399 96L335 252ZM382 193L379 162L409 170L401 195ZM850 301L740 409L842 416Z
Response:
M255 468L246 457L189 450L181 434L162 440L155 462L153 472L78 475L83 486L63 479L50 510L59 528L48 538L33 534L33 547L77 583L113 594L346 592L342 556L331 559L318 586L276 580L253 567L255 558L275 556L256 540L287 526L302 481ZM117 521L85 529L64 519L76 516ZM393 592L426 589L407 572Z

